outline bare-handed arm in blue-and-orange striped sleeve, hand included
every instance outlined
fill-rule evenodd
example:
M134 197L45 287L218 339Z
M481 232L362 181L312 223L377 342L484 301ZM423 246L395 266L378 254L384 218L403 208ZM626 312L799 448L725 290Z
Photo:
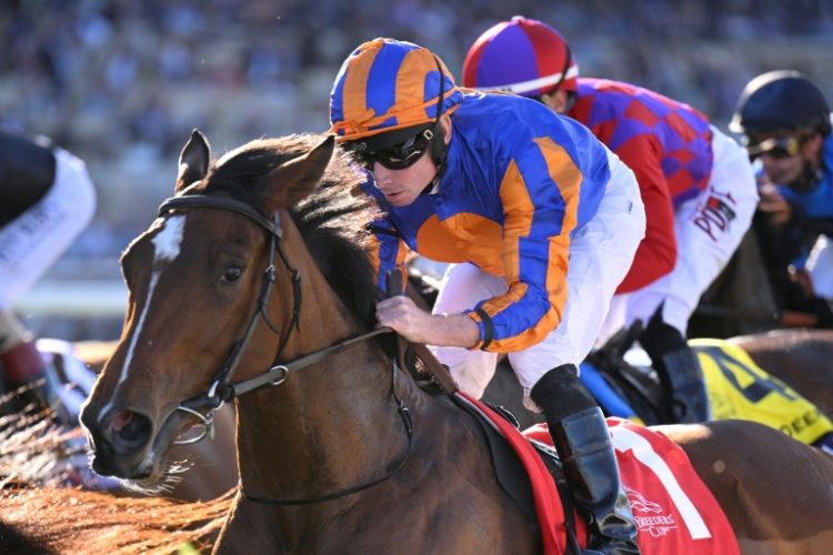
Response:
M522 147L501 180L503 244L495 255L502 260L506 293L451 315L432 315L407 300L389 299L378 305L379 325L415 343L493 352L521 351L554 330L566 301L570 232L582 181L580 170L561 153L549 139Z

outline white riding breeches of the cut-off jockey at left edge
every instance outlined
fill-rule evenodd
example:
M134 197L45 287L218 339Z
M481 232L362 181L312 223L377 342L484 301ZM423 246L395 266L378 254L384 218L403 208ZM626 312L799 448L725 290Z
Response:
M96 212L96 188L84 162L61 149L54 157L54 183L47 194L0 229L0 311L29 291Z

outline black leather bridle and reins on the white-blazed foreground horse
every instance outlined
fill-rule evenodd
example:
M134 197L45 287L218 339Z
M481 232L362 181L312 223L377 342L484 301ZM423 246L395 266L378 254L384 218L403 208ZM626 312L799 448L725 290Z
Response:
M244 393L257 390L264 385L280 385L287 380L287 377L289 377L290 373L311 366L312 364L315 364L318 362L321 362L328 356L330 356L331 354L337 353L349 345L353 345L355 343L367 341L371 337L375 337L377 335L393 332L390 327L380 327L371 332L347 339L334 345L330 345L319 351L314 351L312 353L305 354L301 356L300 359L297 359L292 362L281 364L279 360L281 355L283 354L283 351L287 347L287 344L289 343L290 336L292 334L292 330L294 329L300 332L299 316L301 312L301 273L294 266L292 266L292 264L289 262L289 259L287 258L287 253L283 251L283 246L281 243L283 232L281 230L280 213L274 212L272 214L272 219L270 220L263 216L262 214L260 214L259 212L257 212L253 208L251 208L249 204L244 202L240 202L240 201L237 201L233 199L227 199L227 198L193 194L193 195L185 195L185 196L172 196L170 199L164 200L162 204L159 206L159 216L164 218L172 211L183 210L183 209L218 209L218 210L225 210L225 211L235 212L238 214L244 215L245 218L249 218L250 220L259 224L269 233L269 245L268 245L269 251L268 251L267 268L263 271L263 281L261 282L261 287L260 287L260 296L258 297L258 306L254 313L252 314L251 319L249 320L249 324L245 327L245 332L232 345L229 356L225 359L225 362L223 363L220 371L214 376L214 380L209 386L208 391L203 393L202 395L183 401L177 407L177 411L185 412L190 414L191 416L194 416L195 418L199 420L200 425L202 426L201 433L198 434L198 436L193 438L174 441L173 443L191 444L191 443L197 443L199 441L202 441L207 436L210 438L213 438L214 414L223 404L234 400L235 397ZM272 330L272 332L274 332L279 336L281 335L280 331L272 324L272 322L269 320L269 315L267 314L269 294L271 293L272 286L274 285L274 282L275 282L275 273L277 273L275 265L274 265L275 252L278 253L278 256L281 259L281 261L283 262L283 265L285 266L285 269L289 271L289 273L292 276L292 295L293 295L292 319L290 320L290 324L289 324L289 327L287 329L285 334L283 334L283 337L281 339L279 343L277 353L274 355L274 359L272 360L272 364L270 369L263 372L262 374L255 377L252 377L250 380L245 380L242 382L232 382L231 380L234 375L234 372L237 371L237 367L240 364L240 360L243 355L245 346L249 344L249 341L251 340L251 336L254 333L254 327L258 324L259 317L263 319L263 321L267 323L270 330ZM345 490L341 490L341 491L338 491L328 495L323 495L320 497L273 500L273 498L254 497L244 493L247 498L250 498L258 503L267 503L271 505L301 505L301 504L308 504L308 503L317 503L321 501L334 500L338 497L342 497L344 495L360 492L362 490L377 485L381 482L384 482L389 477L393 476L397 472L399 472L404 466L405 462L408 461L411 454L412 447L413 447L413 423L411 420L411 414L408 411L408 407L404 405L402 400L400 400L399 396L397 396L395 389L394 389L395 374L397 374L397 366L395 364L392 364L391 365L391 395L393 396L393 400L397 403L397 410L399 412L400 417L402 418L402 422L405 427L405 432L408 434L408 451L405 452L405 455L402 457L400 463L394 468L389 471L381 478L374 480L369 483L364 483L359 486L353 486L353 487L349 487ZM200 410L205 410L205 408L207 408L207 412L204 414L200 412Z

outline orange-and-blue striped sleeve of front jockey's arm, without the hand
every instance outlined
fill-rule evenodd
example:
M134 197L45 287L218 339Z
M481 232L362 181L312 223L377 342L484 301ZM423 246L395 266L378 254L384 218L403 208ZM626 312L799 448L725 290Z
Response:
M514 151L500 188L504 216L500 255L509 290L466 312L480 329L475 347L522 351L561 322L570 233L578 221L582 182L581 170L549 138Z

